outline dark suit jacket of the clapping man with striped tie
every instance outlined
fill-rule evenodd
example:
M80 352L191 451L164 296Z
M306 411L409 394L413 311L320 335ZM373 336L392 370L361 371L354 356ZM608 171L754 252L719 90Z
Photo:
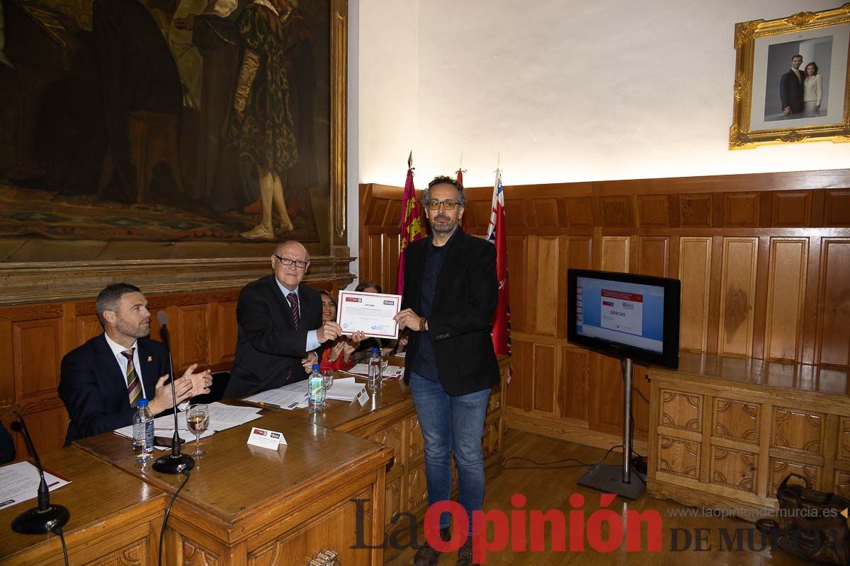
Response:
M153 399L156 381L168 373L168 350L160 342L147 338L140 338L137 345L144 393ZM65 446L77 439L133 424L136 410L130 406L127 380L104 334L62 358L59 398L71 417Z

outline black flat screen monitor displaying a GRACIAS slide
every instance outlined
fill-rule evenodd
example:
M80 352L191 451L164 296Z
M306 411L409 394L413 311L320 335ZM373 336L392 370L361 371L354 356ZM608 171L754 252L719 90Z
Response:
M678 279L570 269L567 339L638 363L679 365Z

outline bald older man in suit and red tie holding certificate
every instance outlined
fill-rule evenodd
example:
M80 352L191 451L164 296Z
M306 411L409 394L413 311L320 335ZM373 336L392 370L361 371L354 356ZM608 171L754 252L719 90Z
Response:
M248 283L239 294L236 360L225 397L246 397L301 381L318 361L316 350L343 329L322 322L316 289L302 284L307 249L290 240L271 256L272 275Z

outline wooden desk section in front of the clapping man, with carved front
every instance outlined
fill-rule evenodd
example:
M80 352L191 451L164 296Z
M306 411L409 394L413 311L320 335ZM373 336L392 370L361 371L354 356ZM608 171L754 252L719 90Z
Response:
M252 426L280 431L287 446L247 446ZM345 566L383 562L380 547L352 547L358 529L366 545L380 541L389 448L287 412L270 412L201 444L208 454L195 462L174 504L164 563L300 566L328 549ZM75 446L168 494L184 479L135 462L131 440L115 434ZM365 512L360 518L358 505Z

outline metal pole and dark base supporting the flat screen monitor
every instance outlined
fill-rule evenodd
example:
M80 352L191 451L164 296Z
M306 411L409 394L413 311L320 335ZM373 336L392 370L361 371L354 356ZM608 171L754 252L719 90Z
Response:
M623 465L596 464L579 478L579 485L635 500L646 485L632 478L632 358L623 360L623 384Z

